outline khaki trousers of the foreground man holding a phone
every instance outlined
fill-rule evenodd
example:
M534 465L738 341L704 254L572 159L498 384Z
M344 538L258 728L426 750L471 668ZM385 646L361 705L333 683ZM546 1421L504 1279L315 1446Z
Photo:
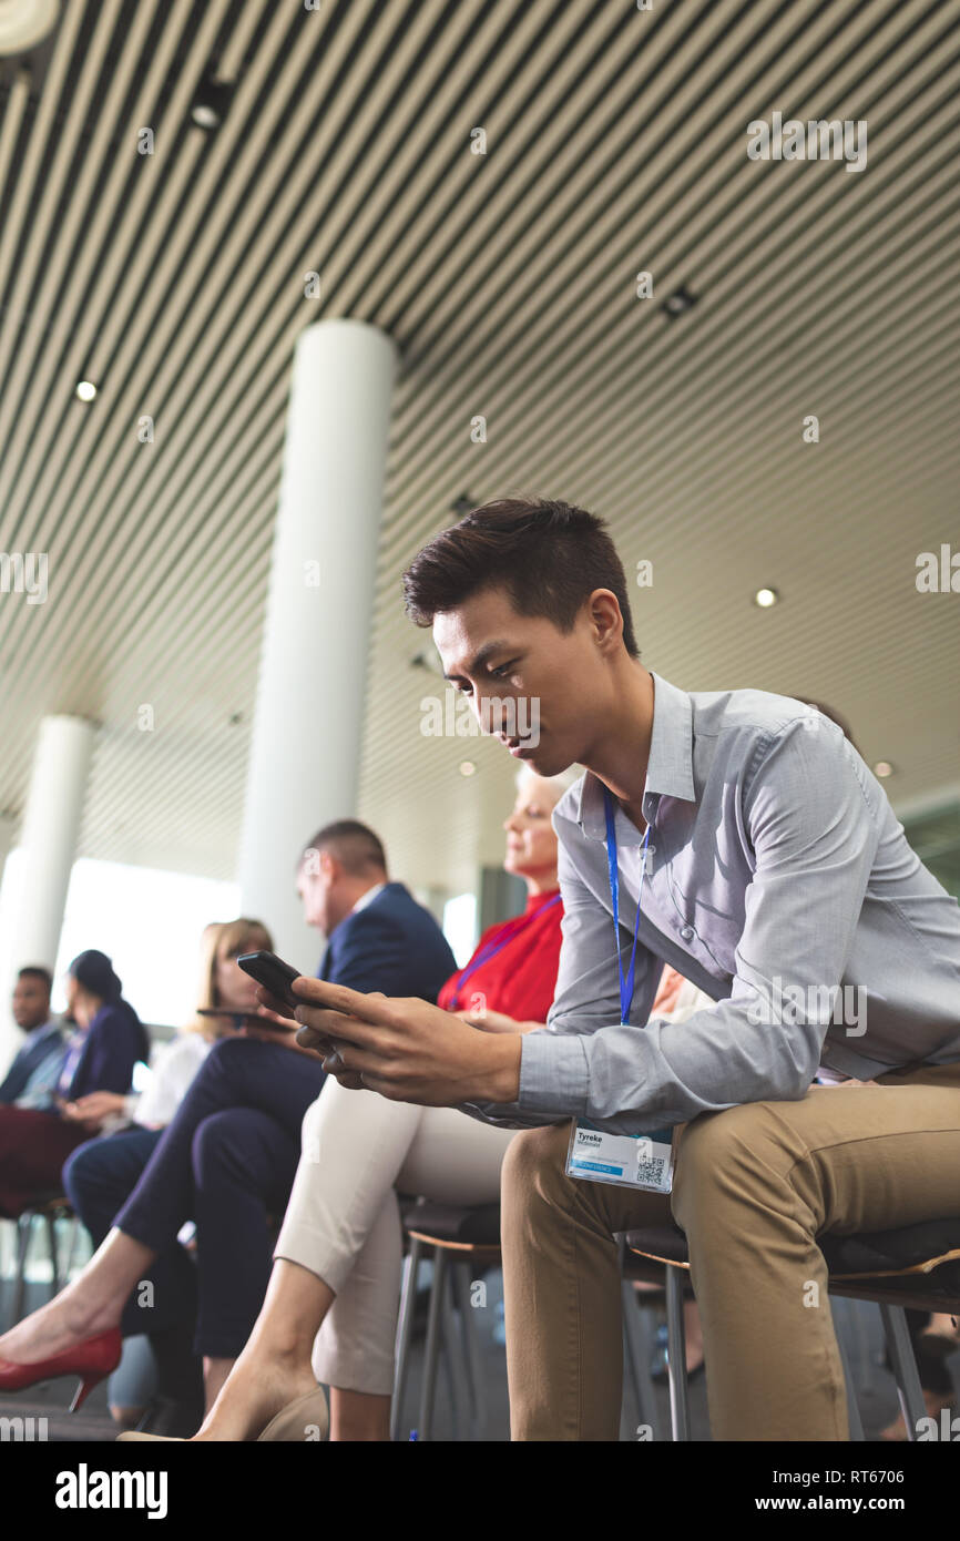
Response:
M512 1438L618 1438L613 1234L672 1213L690 1251L713 1439L848 1439L817 1236L960 1217L960 1060L701 1114L678 1130L669 1196L567 1177L569 1134L518 1134L502 1168Z

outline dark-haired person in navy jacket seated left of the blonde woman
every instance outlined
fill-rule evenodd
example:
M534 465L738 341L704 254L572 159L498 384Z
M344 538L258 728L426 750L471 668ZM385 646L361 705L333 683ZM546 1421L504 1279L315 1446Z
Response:
M91 1091L126 1093L149 1043L105 952L91 948L69 966L69 1016L77 1023L45 1108L0 1108L0 1214L15 1219L60 1188L60 1168L91 1134L71 1103Z

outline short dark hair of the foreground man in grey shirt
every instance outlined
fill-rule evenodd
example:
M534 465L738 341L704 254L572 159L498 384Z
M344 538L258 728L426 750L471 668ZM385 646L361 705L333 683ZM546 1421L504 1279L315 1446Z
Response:
M438 612L499 587L518 615L545 616L561 632L573 630L595 589L610 589L624 618L624 647L639 658L623 562L606 522L586 509L533 496L484 502L435 535L404 573L407 613L418 626L433 626Z

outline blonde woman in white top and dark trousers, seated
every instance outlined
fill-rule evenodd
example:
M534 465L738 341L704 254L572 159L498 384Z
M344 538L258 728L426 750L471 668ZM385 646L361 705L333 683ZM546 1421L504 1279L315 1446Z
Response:
M123 1097L116 1091L92 1091L76 1103L77 1114L91 1119L126 1116L133 1128L86 1140L66 1159L63 1190L99 1247L112 1225L114 1214L129 1197L160 1142L163 1130L180 1106L210 1049L222 1037L233 1037L243 1025L243 1012L257 1009L256 983L237 968L240 952L273 951L270 932L259 920L213 923L203 931L200 988L196 1011L185 1028L156 1056L146 1089ZM222 1016L206 1012L220 1011ZM234 1016L236 1014L236 1016ZM156 1427L177 1427L179 1408L202 1416L203 1381L193 1350L197 1270L185 1250L174 1242L146 1276L156 1305L149 1313L149 1344L157 1367ZM143 1281L139 1281L142 1285ZM143 1310L128 1301L122 1319L123 1336L143 1333ZM126 1367L122 1371L126 1379ZM111 1385L111 1393L114 1387ZM128 1393L129 1395L129 1393ZM142 1407L111 1412L128 1427L142 1416ZM154 1424L151 1424L154 1427ZM196 1422L193 1424L196 1427Z

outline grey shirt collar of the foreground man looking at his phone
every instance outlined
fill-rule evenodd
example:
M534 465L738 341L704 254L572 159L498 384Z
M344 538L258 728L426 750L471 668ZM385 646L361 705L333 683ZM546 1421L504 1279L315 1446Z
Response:
M693 704L686 690L650 670L653 680L653 726L650 730L650 757L644 781L643 812L650 821L656 815L661 797L678 797L695 801L693 789ZM576 823L584 835L606 840L607 817L604 811L603 781L587 770L581 789ZM623 844L639 844L643 838L623 809L616 809L616 837Z

